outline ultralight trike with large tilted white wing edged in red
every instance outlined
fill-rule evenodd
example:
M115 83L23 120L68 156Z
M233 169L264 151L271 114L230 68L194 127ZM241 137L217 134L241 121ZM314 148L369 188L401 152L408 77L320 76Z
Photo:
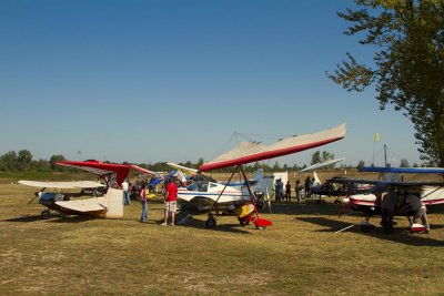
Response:
M251 162L259 162L263 160L289 155L312 147L317 147L339 141L344 136L345 124L341 124L339 126L314 134L282 139L271 145L263 145L260 142L242 142L239 143L236 147L219 155L213 161L202 164L199 167L200 173L230 166L235 167L228 183L224 185L224 188L220 191L218 198L213 203L213 206L209 213L209 217L205 222L206 226L214 227L216 225L215 216L218 213L214 211L218 207L219 201L223 198L222 196L224 195L224 192L226 190L231 192L232 188L229 186L229 184L238 171L240 171L241 175L243 176L249 192L249 201L244 201L243 204L238 204L236 208L234 210L239 222L241 223L241 225L248 225L250 222L253 222L258 229L264 229L266 228L266 226L272 225L271 221L259 217L256 203L258 198L248 182L248 177L242 165Z

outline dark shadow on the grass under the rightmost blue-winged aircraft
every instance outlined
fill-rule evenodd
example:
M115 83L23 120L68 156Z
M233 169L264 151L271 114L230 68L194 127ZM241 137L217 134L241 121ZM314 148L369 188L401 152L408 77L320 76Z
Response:
M334 233L334 232L344 229L345 227L352 225L350 223L345 223L342 221L329 220L325 217L295 217L295 220L326 227L326 229L319 229L316 232ZM433 225L432 231L433 231L433 228L436 228L436 226L437 225ZM360 227L357 227L357 226L351 227L351 228L346 229L346 232L362 233ZM384 233L382 233L382 228L376 228L376 229L372 231L371 233L362 233L362 235L370 235L370 236L379 238L379 239L406 244L406 245L411 245L411 246L432 246L432 247L443 247L444 246L444 242L442 242L442 241L426 237L426 234L411 235L406 228L402 228L402 227L395 228L395 232L393 234L384 234Z

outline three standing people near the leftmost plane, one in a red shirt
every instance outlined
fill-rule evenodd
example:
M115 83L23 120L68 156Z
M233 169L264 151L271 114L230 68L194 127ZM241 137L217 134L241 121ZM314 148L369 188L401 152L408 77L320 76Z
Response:
M176 177L174 175L170 175L169 182L165 184L164 191L164 222L160 224L161 226L171 225L174 226L175 212L178 210L178 185ZM130 183L125 178L121 188L123 191L123 205L130 205ZM137 192L138 200L142 204L142 214L140 216L141 222L148 222L148 194L149 190L147 188L147 184L142 183L140 188L135 186L131 187L132 191ZM171 220L170 220L171 217ZM170 220L170 223L169 223Z

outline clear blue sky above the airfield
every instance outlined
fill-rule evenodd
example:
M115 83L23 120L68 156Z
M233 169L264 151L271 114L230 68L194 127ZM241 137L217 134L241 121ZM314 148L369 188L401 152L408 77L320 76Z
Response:
M349 93L325 75L346 52L372 63L373 49L344 35L336 16L352 6L2 0L0 154L210 161L235 144L228 144L234 132L272 141L346 122L344 140L317 150L370 164L379 132L376 164L384 143L392 165L421 163L401 112L380 111L373 90ZM314 151L276 160L309 164Z

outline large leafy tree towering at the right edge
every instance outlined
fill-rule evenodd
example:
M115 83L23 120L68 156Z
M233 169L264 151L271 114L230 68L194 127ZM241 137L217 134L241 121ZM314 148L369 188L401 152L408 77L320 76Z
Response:
M373 45L374 65L351 53L327 75L349 91L375 84L380 109L393 104L416 133L421 159L444 166L444 1L355 0L357 10L339 17L351 22L344 33L365 35Z

